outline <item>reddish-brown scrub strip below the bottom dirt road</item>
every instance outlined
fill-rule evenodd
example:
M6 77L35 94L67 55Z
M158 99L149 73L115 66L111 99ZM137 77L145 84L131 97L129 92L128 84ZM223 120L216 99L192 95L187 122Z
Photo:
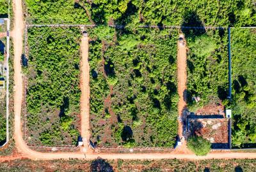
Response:
M65 168L63 168L65 166ZM4 161L0 164L0 171L246 171L256 170L255 159L209 159L202 161L188 161L184 159L161 160L120 160L107 161L95 159L93 161L69 159L52 161L32 161L30 159L16 159Z

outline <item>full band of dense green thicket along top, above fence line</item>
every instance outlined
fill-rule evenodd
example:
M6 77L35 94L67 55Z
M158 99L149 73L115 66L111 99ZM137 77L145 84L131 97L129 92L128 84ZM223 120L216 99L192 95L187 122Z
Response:
M66 22L122 25L256 25L256 8L251 0L26 0L35 23ZM87 13L86 13L87 11Z

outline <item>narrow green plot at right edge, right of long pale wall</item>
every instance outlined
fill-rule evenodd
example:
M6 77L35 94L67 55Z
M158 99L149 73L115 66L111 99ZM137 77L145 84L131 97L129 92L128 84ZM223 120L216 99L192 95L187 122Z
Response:
M256 29L231 29L232 145L256 147Z

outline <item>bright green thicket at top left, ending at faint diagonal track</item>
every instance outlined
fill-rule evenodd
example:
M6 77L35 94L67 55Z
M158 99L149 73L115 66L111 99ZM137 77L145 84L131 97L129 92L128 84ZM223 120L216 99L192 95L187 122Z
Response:
M1 0L0 0L1 1ZM25 0L33 24L90 24L84 3L74 0Z

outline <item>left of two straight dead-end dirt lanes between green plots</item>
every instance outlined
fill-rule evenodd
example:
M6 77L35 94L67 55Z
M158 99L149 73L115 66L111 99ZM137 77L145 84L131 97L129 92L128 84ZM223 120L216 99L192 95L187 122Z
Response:
M80 65L80 111L81 111L81 136L83 138L84 147L88 148L90 139L90 66L89 57L89 38L83 36L81 39L81 65Z

